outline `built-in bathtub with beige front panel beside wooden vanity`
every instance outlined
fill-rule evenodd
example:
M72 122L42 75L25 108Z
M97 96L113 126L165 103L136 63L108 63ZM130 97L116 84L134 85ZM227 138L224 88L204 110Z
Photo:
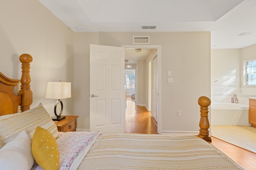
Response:
M212 103L211 125L250 126L249 105L237 103Z

